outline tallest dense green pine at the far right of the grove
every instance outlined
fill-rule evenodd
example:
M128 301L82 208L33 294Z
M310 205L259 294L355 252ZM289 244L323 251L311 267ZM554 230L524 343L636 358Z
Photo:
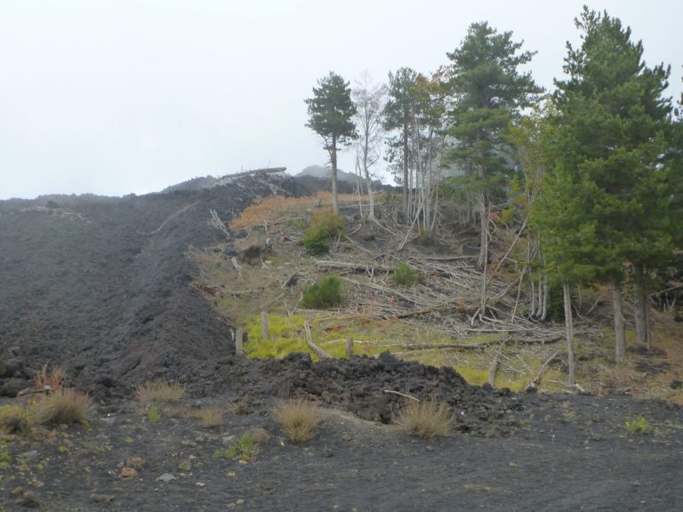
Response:
M544 214L555 215L546 221L553 242L544 254L569 278L587 267L591 281L612 285L615 361L622 362L625 264L634 269L639 338L647 342L646 270L672 252L669 167L661 160L671 126L671 100L662 97L669 68L647 68L642 43L631 42L631 30L607 12L584 7L575 23L582 44L567 44L569 77L556 81L553 97L558 180L544 200Z

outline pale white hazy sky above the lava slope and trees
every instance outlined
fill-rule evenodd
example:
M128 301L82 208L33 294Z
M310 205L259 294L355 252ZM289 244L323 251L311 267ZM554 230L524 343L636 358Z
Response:
M0 0L0 199L325 164L303 100L328 71L430 72L488 20L551 88L584 3L671 64L678 100L680 0Z

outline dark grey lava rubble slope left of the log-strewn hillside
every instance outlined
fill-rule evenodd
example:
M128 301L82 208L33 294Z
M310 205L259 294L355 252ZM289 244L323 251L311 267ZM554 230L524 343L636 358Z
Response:
M225 240L209 209L227 222L255 197L298 189L252 175L169 194L0 202L0 395L44 363L100 398L213 369L233 352L230 329L190 285L189 247Z

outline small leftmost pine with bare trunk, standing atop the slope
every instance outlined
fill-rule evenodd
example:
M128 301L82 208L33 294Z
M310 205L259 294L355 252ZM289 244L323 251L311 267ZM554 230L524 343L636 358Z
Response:
M305 100L309 106L309 122L306 124L323 140L323 147L330 155L332 165L332 205L339 213L337 197L337 151L340 144L349 144L358 137L352 117L356 106L351 100L348 82L342 76L330 71L329 75L317 81L313 97Z

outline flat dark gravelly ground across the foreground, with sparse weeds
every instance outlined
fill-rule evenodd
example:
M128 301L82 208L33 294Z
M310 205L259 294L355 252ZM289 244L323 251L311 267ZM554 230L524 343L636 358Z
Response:
M166 414L150 424L139 404L92 428L57 429L15 442L0 469L0 510L652 510L683 505L680 410L627 397L521 396L509 436L408 437L396 427L329 411L318 436L290 444L269 416L272 401L248 414L221 396L185 407L225 411L221 426ZM652 431L630 434L625 422ZM249 428L269 443L245 464L214 453ZM130 478L123 467L133 458ZM159 478L167 477L168 482Z

